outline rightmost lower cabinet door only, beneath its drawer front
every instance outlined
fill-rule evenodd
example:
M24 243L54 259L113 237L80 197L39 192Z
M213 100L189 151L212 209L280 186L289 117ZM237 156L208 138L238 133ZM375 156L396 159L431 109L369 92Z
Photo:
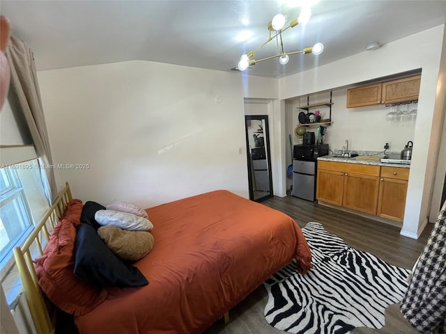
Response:
M403 168L400 168L403 169ZM380 179L377 215L402 222L406 207L407 181L383 177Z

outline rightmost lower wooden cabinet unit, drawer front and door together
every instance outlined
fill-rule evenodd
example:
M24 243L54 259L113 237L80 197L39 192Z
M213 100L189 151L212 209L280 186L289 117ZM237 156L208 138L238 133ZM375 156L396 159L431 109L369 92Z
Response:
M408 179L408 168L381 167L378 216L403 221Z

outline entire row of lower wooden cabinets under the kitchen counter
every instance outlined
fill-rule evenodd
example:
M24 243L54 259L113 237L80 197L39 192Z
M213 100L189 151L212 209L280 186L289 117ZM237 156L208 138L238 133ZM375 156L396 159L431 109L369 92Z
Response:
M316 198L403 221L408 168L318 161Z

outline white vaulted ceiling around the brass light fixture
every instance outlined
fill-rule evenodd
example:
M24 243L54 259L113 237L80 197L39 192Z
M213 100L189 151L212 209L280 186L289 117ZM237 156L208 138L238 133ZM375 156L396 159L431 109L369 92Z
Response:
M230 71L242 54L268 39L275 14L283 13L289 23L302 8L290 3L305 1L1 0L0 13L33 50L38 70L146 60ZM286 65L275 58L247 73L284 77L445 22L444 0L318 0L310 21L286 31L283 44L284 51L296 51L321 42L323 54L296 54ZM276 52L273 40L256 58Z

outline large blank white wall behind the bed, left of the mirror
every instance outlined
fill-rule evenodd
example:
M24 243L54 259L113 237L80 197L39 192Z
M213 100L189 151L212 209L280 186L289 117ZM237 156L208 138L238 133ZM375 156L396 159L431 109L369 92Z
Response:
M214 189L248 197L239 74L130 61L38 79L55 164L89 164L55 170L73 196L144 207Z

